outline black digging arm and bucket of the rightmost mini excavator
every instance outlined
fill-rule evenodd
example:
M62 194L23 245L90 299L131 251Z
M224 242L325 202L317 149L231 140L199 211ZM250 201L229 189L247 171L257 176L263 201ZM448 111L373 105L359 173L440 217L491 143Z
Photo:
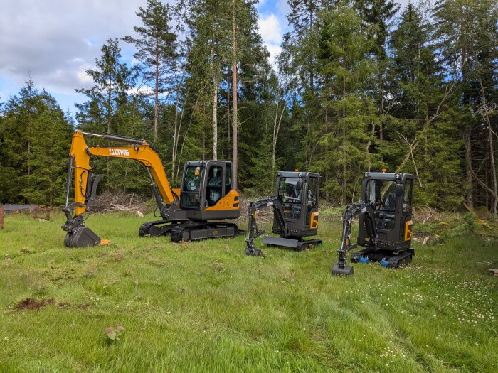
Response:
M373 202L370 201L359 201L353 205L346 206L346 210L344 210L344 214L342 215L341 248L337 250L339 262L332 266L332 274L353 274L353 267L346 265L346 254L357 247L356 244L351 244L351 225L354 217L364 215L369 242L373 247L377 247L377 231L373 212Z

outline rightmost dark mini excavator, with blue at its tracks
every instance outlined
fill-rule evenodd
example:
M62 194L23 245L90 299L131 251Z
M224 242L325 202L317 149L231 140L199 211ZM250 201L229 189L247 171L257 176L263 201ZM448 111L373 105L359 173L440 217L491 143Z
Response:
M412 238L413 175L410 173L366 172L361 185L361 200L347 205L342 215L339 261L332 266L334 275L351 275L353 266L346 263L351 253L353 263L377 261L388 268L406 266L415 251ZM353 218L359 216L358 239L351 243Z

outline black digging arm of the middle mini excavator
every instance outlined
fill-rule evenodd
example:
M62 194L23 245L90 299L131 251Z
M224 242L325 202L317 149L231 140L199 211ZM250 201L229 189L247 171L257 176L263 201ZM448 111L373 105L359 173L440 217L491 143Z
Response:
M258 228L258 211L270 206L272 207L273 218L275 222L277 222L280 234L283 237L286 237L289 234L289 227L287 227L287 223L285 222L282 212L282 204L278 198L266 197L250 202L248 207L248 238L245 239L245 255L259 256L261 254L261 250L256 249L254 246L254 240L262 234L265 234L265 229Z

